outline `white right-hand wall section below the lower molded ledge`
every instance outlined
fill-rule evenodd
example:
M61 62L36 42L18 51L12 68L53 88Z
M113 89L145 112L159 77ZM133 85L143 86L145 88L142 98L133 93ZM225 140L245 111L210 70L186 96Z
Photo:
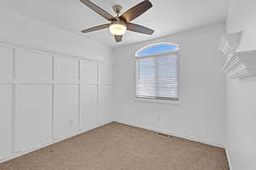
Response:
M228 80L226 149L232 170L256 168L256 79Z

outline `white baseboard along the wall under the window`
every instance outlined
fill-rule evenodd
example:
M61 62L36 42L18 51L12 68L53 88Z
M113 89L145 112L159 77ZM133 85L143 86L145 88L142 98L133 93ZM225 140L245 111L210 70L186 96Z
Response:
M175 132L170 132L170 131L165 131L165 130L159 130L159 129L154 129L152 127L143 127L143 126L137 125L135 123L131 123L131 122L120 122L120 121L115 121L115 122L123 123L123 124L130 125L130 126L133 126L133 127L144 128L144 129L154 131L154 132L157 132L157 133L165 133L165 134L175 136L175 137L178 137L178 138L182 138L182 139L189 139L189 140L199 142L199 143L202 143L202 144L208 144L208 145L216 146L216 147L219 147L219 148L224 148L224 144L216 144L216 143L207 141L205 139L192 137L192 136L185 135L185 134L182 134L182 133L175 133Z

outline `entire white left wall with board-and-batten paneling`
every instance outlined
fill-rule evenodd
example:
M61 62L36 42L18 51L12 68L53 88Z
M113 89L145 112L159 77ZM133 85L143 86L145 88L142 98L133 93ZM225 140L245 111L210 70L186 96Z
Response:
M6 9L0 22L0 162L113 121L110 48Z

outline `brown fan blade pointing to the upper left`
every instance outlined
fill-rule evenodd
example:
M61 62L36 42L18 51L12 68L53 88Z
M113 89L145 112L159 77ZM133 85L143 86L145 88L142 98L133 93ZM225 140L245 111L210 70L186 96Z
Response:
M86 5L87 7L91 8L97 14L102 15L102 17L104 17L105 19L116 20L111 14L97 6L95 3L91 3L89 0L81 0L81 2L84 3L84 5Z

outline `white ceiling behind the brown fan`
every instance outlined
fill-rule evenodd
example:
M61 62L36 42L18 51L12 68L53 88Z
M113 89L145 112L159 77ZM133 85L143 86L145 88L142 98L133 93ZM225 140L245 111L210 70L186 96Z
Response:
M111 8L114 4L121 4L125 12L142 0L91 0L91 2L114 14ZM25 14L35 20L47 22L111 47L207 26L224 21L228 13L228 0L151 0L151 2L153 8L132 22L154 29L154 35L128 31L123 42L119 43L114 41L108 29L88 34L80 33L88 27L108 23L108 20L91 11L79 0L1 0L1 5L16 13Z

